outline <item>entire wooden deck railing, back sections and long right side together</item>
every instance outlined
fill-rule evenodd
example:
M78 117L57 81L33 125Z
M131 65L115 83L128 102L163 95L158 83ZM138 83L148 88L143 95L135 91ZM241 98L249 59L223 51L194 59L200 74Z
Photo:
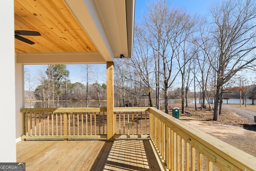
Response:
M106 138L106 108L21 109L22 139ZM114 138L150 138L173 171L253 171L256 157L154 107L114 108Z

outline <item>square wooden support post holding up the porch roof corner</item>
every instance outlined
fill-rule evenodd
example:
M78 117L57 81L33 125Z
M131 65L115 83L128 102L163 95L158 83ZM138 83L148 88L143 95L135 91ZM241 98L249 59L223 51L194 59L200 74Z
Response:
M114 62L107 62L107 140L114 137Z

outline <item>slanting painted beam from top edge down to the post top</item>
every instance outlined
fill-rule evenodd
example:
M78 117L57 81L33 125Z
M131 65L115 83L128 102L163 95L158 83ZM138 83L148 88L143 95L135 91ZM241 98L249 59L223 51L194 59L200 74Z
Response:
M64 0L106 61L114 60L114 53L93 0Z

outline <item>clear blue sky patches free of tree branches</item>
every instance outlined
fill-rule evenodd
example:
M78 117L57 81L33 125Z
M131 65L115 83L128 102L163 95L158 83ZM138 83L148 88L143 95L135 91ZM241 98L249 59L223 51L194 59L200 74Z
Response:
M148 0L136 0L135 5L135 20L139 20L142 14L142 10L146 10L146 3ZM208 9L212 0L171 0L171 6L180 6L185 8L191 14L197 13L201 16L207 15ZM26 65L25 68L28 68L31 73L36 74L40 68L43 66L38 65ZM93 66L95 68L95 65ZM102 75L106 75L106 65L98 64L98 70L100 70ZM70 71L70 77L72 83L83 82L83 73L82 65L68 65L68 70Z

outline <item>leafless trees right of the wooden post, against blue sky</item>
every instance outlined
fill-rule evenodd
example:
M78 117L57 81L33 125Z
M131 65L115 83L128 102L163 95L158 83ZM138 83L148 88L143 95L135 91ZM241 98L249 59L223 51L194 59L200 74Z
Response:
M154 93L156 107L163 97L168 113L172 89L180 87L185 113L194 89L195 100L196 91L201 93L201 109L208 104L212 110L214 101L213 120L218 121L229 87L255 69L255 18L253 0L223 0L204 17L171 7L168 0L148 2L135 24L132 58L115 62L117 103L126 106L148 96L152 106Z

